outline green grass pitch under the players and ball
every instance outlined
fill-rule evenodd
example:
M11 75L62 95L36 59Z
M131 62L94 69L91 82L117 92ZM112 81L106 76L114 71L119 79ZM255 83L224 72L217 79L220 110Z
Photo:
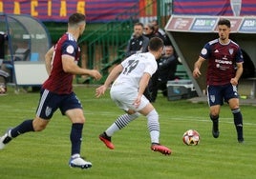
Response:
M0 96L0 133L32 118L39 93L20 92ZM107 149L98 134L123 112L111 101L109 94L95 98L95 88L76 87L87 118L83 130L82 155L93 163L91 169L71 169L71 123L57 111L48 128L26 133L0 150L0 178L61 179L251 179L256 177L255 107L242 106L245 144L239 144L230 109L221 111L218 139L211 136L206 103L187 100L167 101L161 95L154 104L160 114L160 142L173 150L164 156L150 150L146 118L140 116L113 137L116 149ZM199 146L185 146L181 136L186 129L201 134Z

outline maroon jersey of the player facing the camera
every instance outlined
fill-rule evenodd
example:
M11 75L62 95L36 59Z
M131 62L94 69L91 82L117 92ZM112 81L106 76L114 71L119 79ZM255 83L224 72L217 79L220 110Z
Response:
M219 39L208 42L201 51L201 57L208 60L206 83L207 85L225 85L235 77L236 63L243 63L243 53L233 41L221 44Z

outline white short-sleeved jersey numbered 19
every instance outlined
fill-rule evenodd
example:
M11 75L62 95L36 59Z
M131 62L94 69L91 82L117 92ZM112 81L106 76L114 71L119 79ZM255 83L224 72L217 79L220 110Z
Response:
M121 83L129 89L139 89L139 81L147 72L151 76L158 69L155 56L150 52L137 53L126 58L121 63L123 70L115 83Z

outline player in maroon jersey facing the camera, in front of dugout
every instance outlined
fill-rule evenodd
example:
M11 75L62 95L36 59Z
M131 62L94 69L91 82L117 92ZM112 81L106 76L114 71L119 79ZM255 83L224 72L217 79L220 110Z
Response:
M206 83L207 98L210 107L210 119L213 122L213 137L219 137L219 114L224 102L229 105L237 130L238 142L244 142L243 116L239 107L237 85L243 73L243 54L238 44L229 39L230 21L218 22L219 38L208 42L194 65L193 76L201 76L200 68L207 61Z

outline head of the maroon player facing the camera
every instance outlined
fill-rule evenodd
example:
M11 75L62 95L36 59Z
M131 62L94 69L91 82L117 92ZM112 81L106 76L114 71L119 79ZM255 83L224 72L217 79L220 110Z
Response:
M230 21L227 19L220 19L218 22L219 36L222 41L228 40L230 32Z

